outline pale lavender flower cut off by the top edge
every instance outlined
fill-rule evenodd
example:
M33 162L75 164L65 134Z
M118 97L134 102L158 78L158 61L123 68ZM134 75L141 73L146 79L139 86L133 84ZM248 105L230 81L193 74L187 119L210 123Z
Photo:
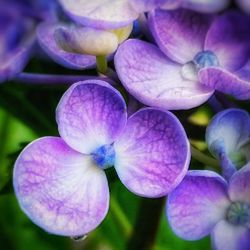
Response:
M76 22L98 29L114 29L135 21L145 11L164 8L190 8L202 12L224 9L229 0L71 0L59 1Z

